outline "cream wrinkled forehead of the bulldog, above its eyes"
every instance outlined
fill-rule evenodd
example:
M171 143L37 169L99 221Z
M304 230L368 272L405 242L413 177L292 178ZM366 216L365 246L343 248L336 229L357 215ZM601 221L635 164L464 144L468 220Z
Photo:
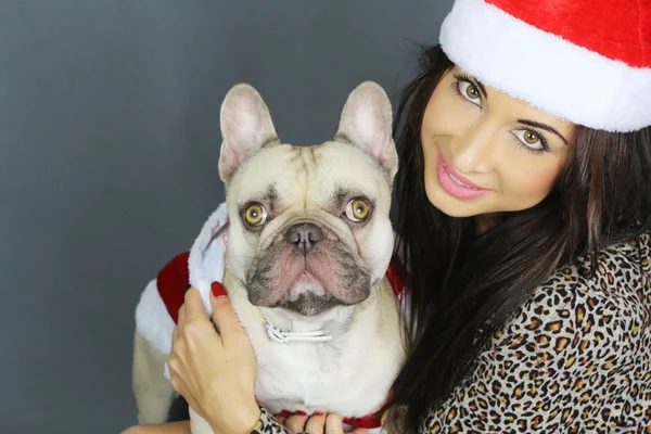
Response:
M243 182L245 180L245 182ZM341 210L352 197L390 201L387 171L359 149L341 142L261 149L231 180L232 196L257 201L272 213Z

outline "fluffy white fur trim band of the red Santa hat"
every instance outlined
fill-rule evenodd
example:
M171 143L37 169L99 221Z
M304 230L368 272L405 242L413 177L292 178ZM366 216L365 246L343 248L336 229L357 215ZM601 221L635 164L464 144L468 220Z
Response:
M631 67L541 31L482 0L457 0L441 46L485 85L608 131L651 125L651 68Z

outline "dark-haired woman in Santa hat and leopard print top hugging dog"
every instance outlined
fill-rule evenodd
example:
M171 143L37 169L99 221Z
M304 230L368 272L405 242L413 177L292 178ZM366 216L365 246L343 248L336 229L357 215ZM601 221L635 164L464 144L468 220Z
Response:
M413 339L388 430L651 432L651 5L607 3L457 0L424 51L396 122ZM174 387L219 433L342 432L257 407L217 295L220 335L187 293Z

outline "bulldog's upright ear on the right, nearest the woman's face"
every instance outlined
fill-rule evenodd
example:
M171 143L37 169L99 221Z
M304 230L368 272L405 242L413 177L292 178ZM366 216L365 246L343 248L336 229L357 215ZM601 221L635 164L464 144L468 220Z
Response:
M398 170L398 153L392 137L391 101L380 85L365 81L348 95L335 140L361 148L388 171Z

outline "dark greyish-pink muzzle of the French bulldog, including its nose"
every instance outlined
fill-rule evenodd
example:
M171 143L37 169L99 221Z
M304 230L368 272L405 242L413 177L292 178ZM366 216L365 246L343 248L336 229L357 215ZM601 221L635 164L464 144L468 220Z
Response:
M371 278L344 243L326 229L304 222L290 227L252 265L246 289L253 305L311 317L363 302Z

